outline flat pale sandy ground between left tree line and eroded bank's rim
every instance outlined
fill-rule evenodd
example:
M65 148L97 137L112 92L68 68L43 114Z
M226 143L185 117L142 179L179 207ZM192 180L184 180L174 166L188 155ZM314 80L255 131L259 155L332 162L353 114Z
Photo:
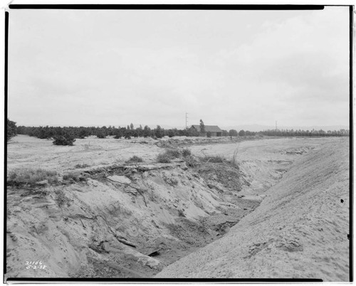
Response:
M75 169L77 164L108 166L126 161L137 155L146 161L153 160L159 149L152 138L76 139L74 146L53 146L53 140L18 135L8 144L8 168L41 167L63 172Z

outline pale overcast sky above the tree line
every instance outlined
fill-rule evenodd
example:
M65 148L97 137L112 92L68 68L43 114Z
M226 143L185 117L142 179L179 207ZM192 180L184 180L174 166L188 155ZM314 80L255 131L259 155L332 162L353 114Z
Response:
M349 10L11 10L17 125L349 125Z

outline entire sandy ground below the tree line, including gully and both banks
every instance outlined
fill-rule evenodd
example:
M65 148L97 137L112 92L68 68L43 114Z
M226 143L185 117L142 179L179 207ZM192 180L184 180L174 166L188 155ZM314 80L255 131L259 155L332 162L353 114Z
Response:
M348 137L7 147L6 277L349 280Z

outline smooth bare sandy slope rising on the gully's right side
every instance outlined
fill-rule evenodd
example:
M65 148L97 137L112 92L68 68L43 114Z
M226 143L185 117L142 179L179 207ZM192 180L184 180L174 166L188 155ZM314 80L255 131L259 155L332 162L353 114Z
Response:
M348 281L349 203L348 140L323 142L296 159L261 205L223 238L157 277Z

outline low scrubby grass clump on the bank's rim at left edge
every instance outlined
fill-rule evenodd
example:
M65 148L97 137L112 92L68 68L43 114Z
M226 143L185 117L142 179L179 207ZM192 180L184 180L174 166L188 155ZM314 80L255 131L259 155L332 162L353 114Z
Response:
M48 184L57 184L58 176L56 171L45 169L15 169L9 172L7 184L9 186L34 185L41 181L48 181Z

